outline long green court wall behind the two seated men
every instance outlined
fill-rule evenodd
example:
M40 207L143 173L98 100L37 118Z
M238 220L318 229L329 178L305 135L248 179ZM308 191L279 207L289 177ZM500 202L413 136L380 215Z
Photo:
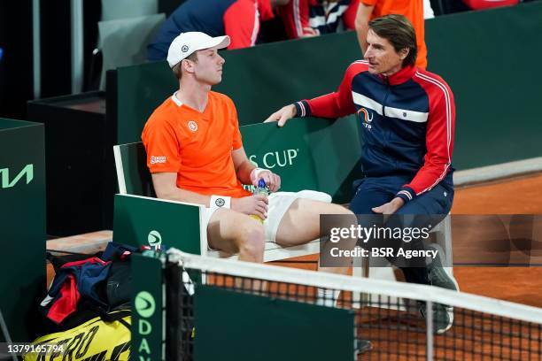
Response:
M542 156L538 112L542 73L542 2L426 21L429 70L453 89L457 108L453 164L459 170ZM214 89L236 103L241 125L266 119L283 104L337 88L360 58L352 32L223 52ZM140 140L154 108L177 83L165 62L117 71L119 142ZM111 91L109 89L108 91Z

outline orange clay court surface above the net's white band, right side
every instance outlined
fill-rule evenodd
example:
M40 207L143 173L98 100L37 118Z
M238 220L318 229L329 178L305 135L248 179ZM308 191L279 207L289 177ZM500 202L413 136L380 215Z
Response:
M455 191L452 214L542 214L540 188L542 188L541 173L460 187ZM454 263L469 257L472 248L476 248L476 244L464 241L461 230L454 227L452 229ZM536 257L536 251L531 252L533 257ZM542 261L541 254L542 245L538 243L538 264ZM316 255L296 259L304 263L275 264L316 269ZM311 263L305 263L307 261ZM453 274L463 292L542 307L540 296L542 266L456 265Z

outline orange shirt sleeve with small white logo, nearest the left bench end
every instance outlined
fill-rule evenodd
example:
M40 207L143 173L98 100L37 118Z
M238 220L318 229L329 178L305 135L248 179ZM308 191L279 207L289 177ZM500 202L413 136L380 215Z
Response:
M147 166L151 173L177 173L181 167L180 143L174 128L164 119L153 118L143 128L141 136L147 151Z

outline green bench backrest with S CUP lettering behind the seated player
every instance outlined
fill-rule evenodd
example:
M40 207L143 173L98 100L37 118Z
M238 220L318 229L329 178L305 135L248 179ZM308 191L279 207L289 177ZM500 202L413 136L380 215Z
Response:
M358 132L354 117L292 119L283 128L275 123L241 127L247 155L281 176L281 190L320 190L336 203L350 201L352 180L360 178ZM115 146L114 153L120 194L154 196L143 143Z

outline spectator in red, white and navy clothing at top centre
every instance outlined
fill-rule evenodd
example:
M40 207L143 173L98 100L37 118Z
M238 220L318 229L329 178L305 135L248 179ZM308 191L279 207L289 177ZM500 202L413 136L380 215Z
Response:
M291 0L277 7L289 39L337 32L341 19L345 29L354 28L358 0Z

